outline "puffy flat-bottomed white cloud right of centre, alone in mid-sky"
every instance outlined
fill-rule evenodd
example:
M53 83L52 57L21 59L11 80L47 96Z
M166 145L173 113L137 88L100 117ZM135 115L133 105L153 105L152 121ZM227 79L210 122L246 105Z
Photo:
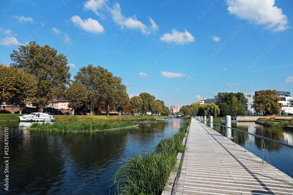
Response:
M166 33L160 38L161 41L167 43L178 42L179 44L188 44L194 42L194 37L185 29L185 32L178 32L175 28L172 29L171 34Z

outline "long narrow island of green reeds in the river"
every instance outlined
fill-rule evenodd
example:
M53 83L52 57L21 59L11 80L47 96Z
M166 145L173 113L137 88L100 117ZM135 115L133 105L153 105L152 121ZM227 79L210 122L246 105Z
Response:
M97 132L103 130L113 130L125 127L134 126L131 122L116 122L116 121L104 121L104 122L61 122L56 121L50 123L38 123L34 122L28 130L36 131L59 131L59 132Z

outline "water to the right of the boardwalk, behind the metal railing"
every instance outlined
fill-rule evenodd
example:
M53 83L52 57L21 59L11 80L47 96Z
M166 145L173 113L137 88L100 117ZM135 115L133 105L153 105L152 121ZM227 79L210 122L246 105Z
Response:
M225 125L225 122L223 122L222 125ZM232 122L231 127L293 145L292 131L288 131L281 128L257 125L255 124L255 122ZM222 131L220 132L221 134L223 134ZM238 144L245 148L244 133L236 131L236 135L238 139ZM234 137L234 130L232 130L232 136ZM247 139L251 153L258 156L259 158L262 158L261 139L253 135L247 135ZM232 139L233 142L235 140ZM293 178L293 149L282 146L280 144L275 144L271 141L264 140L264 143L270 164ZM248 144L246 143L247 150ZM265 151L263 152L263 156L264 161L268 162Z

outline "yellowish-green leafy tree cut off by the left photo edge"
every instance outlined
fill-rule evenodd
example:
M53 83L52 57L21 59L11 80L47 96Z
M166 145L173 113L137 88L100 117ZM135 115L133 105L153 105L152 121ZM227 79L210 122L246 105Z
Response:
M25 103L30 102L35 90L35 80L32 75L22 70L6 66L0 62L0 93L1 103L20 106L20 114Z

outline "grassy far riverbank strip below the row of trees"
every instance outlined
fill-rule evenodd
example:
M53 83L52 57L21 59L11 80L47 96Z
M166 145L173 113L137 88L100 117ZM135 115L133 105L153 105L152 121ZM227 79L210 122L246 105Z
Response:
M18 116L25 114L0 114L0 121L19 121ZM123 120L123 119L156 119L169 118L168 116L107 116L107 115L53 115L58 120Z

